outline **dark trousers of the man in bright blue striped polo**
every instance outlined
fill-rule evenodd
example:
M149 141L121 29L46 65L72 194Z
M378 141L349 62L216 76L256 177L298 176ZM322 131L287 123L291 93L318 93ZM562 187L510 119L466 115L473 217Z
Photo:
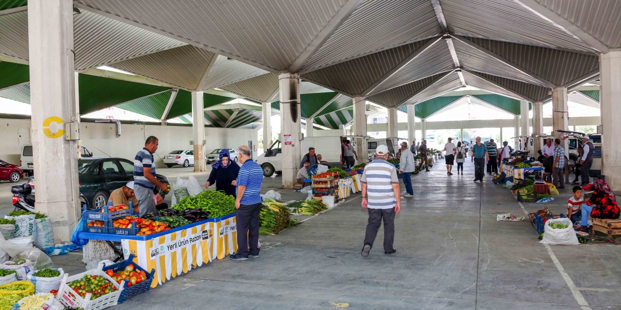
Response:
M261 203L240 205L237 209L237 254L259 255L259 213ZM250 252L248 251L250 244Z

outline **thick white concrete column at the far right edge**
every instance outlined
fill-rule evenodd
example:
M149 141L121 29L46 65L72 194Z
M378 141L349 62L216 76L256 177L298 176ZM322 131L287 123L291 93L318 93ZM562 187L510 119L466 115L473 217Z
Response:
M599 55L600 113L602 120L602 174L615 191L621 190L621 51Z

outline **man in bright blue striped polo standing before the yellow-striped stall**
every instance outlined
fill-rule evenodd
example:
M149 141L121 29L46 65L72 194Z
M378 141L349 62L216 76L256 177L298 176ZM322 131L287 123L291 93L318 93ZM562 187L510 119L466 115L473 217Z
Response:
M261 211L261 184L263 169L252 160L248 146L240 146L237 151L242 167L237 175L237 253L229 255L232 260L248 260L248 255L259 257L259 213ZM248 232L250 231L250 232ZM250 251L248 251L250 244Z

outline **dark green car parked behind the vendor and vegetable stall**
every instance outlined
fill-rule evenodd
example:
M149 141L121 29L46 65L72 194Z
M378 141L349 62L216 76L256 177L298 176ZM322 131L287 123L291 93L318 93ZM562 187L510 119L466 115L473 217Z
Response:
M89 202L89 208L107 205L113 190L134 180L134 162L119 157L91 157L78 159L79 192ZM170 184L161 174L156 179ZM164 198L165 193L160 193Z

